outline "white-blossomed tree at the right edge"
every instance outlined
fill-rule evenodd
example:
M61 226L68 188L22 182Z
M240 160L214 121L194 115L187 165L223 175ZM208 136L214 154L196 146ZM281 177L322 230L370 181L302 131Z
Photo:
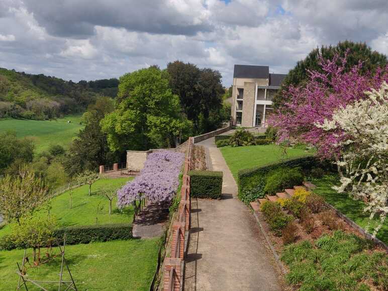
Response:
M365 95L366 99L339 109L331 121L316 126L326 131L342 129L346 138L333 145L341 148L336 161L341 185L334 188L365 201L370 220L379 216L375 236L388 213L388 84L383 82Z

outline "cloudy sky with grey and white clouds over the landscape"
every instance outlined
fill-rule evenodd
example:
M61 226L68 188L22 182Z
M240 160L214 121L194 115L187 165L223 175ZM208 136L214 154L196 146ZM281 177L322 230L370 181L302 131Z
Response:
M179 59L229 85L234 64L286 73L345 39L388 54L388 1L0 0L0 67L73 81Z

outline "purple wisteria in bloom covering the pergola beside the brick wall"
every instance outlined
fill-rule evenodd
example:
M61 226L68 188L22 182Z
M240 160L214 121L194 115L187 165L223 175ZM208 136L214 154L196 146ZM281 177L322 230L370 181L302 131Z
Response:
M183 153L173 151L149 154L140 175L117 191L117 206L123 208L144 197L155 202L171 201L183 160Z

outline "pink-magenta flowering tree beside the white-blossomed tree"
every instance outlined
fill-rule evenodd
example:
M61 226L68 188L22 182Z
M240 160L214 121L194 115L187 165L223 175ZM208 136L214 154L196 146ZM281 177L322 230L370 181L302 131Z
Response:
M325 131L317 127L324 120L332 120L339 108L366 98L365 91L379 88L388 81L388 67L377 68L376 72L361 74L362 63L345 71L346 56L335 56L332 60L320 59L323 72L309 71L306 85L290 86L283 91L288 103L282 105L271 116L268 123L279 128L278 142L290 137L317 147L323 159L338 160L341 148L333 147L346 140L346 134L338 128Z

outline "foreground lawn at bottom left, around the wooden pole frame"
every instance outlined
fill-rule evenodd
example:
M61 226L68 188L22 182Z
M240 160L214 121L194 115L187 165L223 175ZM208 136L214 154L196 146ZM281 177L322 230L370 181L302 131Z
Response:
M148 290L156 268L158 241L142 239L69 245L65 257L78 290ZM22 261L23 252L0 251L0 290L16 289L16 262ZM58 280L59 272L60 258L27 271L30 278L42 280ZM64 274L64 279L68 279L67 272ZM50 287L49 290L58 289L54 284L43 286ZM28 288L38 290L31 283Z

